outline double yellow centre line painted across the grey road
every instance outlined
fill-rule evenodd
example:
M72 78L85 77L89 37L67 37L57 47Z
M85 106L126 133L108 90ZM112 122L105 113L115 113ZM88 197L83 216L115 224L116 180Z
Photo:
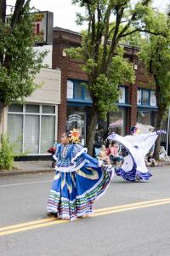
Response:
M153 200L153 201L141 201L137 203L132 203L128 205L116 206L116 207L107 207L95 210L94 214L90 218L107 215L116 212L125 212L130 210L136 210L146 207L155 207L160 205L170 204L170 198ZM88 218L88 217L87 217ZM54 224L65 224L70 222L70 220L57 219L57 218L42 218L35 221L23 223L23 224L14 224L6 227L0 228L0 236L6 236L26 230L35 230L42 227L47 227Z

